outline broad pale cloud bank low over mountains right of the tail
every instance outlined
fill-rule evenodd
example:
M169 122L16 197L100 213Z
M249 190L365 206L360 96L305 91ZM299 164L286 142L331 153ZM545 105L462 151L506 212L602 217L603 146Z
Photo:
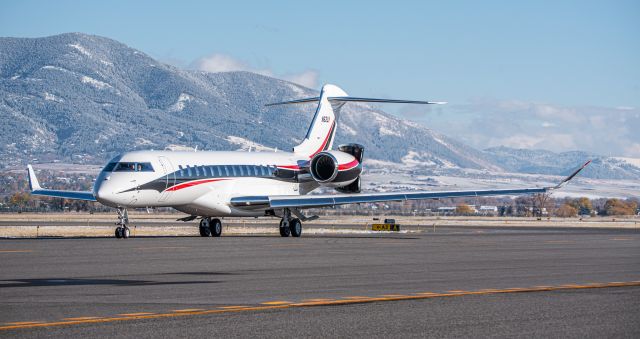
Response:
M442 106L442 113L416 114L419 109L401 114L480 149L509 146L640 157L640 108L476 100Z

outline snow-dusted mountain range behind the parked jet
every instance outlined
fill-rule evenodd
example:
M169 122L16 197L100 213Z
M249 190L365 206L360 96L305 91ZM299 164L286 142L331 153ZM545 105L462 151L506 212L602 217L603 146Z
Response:
M317 94L249 72L179 69L99 36L0 38L1 166L52 160L101 164L135 149L289 150L304 137L315 106L264 105ZM346 142L365 145L366 158L378 166L423 173L563 174L589 156L480 151L355 103L340 117L336 143ZM600 157L596 165L588 176L640 179L640 168L625 160Z

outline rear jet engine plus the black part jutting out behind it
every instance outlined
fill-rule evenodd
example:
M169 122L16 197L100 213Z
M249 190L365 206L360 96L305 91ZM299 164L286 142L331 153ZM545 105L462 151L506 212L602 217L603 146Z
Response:
M333 187L341 192L359 192L363 151L360 145L347 144L340 145L338 150L320 152L311 159L309 172L322 186ZM347 187L349 189L345 190Z

